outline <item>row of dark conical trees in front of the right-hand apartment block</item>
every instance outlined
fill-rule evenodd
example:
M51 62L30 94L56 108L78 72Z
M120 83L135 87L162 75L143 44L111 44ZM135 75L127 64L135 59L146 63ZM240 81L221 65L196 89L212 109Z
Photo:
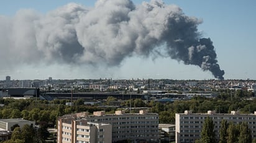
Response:
M216 143L216 134L214 131L213 119L206 118L204 120L203 129L201 131L201 138L196 140L196 143ZM252 140L252 132L247 123L234 124L227 123L222 120L221 128L219 129L219 143L255 143Z

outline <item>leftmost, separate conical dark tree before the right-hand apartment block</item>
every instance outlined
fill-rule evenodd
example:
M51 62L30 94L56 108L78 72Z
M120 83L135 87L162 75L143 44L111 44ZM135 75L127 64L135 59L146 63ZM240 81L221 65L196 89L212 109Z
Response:
M214 132L214 123L213 119L209 116L204 119L203 129L201 131L200 143L215 143L215 132Z

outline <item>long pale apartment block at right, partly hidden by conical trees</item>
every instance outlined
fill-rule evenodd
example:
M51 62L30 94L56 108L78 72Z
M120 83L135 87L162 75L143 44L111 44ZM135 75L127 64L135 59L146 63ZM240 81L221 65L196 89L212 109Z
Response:
M192 111L186 110L185 113L175 114L176 143L194 142L199 139L204 119L208 116L214 121L216 139L219 139L222 119L226 119L228 123L233 122L235 124L246 122L252 131L252 137L256 137L256 111L254 114L240 114L239 111L231 111L231 114L217 114L215 111L192 113Z

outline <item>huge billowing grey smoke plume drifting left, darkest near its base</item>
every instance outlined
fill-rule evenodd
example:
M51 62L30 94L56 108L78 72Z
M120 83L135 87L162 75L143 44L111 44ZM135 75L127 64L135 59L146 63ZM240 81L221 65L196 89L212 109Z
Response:
M201 38L201 20L178 6L152 0L99 0L93 8L67 4L46 15L32 10L0 15L0 68L41 62L118 66L128 56L166 55L224 79L213 42Z

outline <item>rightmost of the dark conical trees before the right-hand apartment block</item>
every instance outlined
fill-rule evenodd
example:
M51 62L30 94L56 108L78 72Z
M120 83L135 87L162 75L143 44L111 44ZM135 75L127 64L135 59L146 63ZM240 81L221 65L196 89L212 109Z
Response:
M252 142L252 132L247 123L243 122L242 124L240 124L239 131L239 143Z

